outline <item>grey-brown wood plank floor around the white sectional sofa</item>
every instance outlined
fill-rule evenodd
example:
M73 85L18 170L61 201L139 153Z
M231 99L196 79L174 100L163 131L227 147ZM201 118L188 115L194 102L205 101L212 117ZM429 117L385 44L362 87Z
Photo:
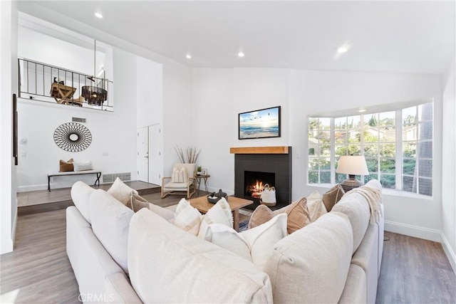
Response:
M167 206L180 199L144 197ZM456 276L440 243L385 236L376 303L456 303ZM65 209L19 216L14 251L0 256L0 286L0 303L79 303L66 256Z

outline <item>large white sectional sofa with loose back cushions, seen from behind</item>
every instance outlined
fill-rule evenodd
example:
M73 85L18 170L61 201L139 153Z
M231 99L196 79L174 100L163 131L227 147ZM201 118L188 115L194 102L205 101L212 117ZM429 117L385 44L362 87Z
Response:
M383 216L370 223L359 193L276 243L263 271L170 224L168 209L134 214L83 182L71 196L67 253L84 303L375 303Z

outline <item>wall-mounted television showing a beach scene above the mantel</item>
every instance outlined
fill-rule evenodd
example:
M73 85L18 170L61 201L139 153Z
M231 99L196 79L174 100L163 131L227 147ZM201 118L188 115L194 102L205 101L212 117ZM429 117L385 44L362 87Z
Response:
M280 137L280 106L239 113L239 140Z

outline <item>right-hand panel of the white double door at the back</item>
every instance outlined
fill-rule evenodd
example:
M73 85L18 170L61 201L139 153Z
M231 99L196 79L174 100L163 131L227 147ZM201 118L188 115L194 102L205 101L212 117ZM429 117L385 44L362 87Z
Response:
M163 144L162 126L149 126L149 182L152 184L162 184L163 172Z

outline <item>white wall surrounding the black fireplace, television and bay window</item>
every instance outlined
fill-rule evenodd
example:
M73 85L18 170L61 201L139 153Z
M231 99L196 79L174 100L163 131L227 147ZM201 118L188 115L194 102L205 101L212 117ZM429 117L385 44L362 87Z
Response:
M232 79L232 77L234 79ZM195 69L193 78L195 143L204 147L200 164L207 167L212 189L234 192L234 156L229 147L291 145L293 199L327 189L306 184L307 117L408 100L435 99L434 196L426 198L385 191L388 231L440 241L442 175L442 79L440 75L303 71L270 68ZM231 96L232 105L229 105ZM237 114L281 105L281 137L237 140ZM232 111L232 112L229 112ZM211 122L214 112L227 112ZM208 116L209 115L209 116ZM200 117L203 117L202 120ZM217 137L217 135L220 135ZM209 143L212 142L212 145ZM226 188L225 188L226 187Z

